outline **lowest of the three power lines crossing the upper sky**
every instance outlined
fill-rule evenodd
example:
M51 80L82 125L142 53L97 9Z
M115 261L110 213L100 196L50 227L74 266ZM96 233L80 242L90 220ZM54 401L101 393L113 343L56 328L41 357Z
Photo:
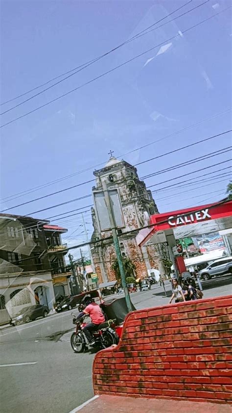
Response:
M187 28L186 30L183 30L183 31L182 31L182 35L183 35L184 33L186 33L187 31L192 30L193 28L202 25L203 23L207 22L208 20L212 19L213 17L215 17L215 16L223 13L224 11L228 10L229 8L231 8L231 6L229 6L229 7L225 8L225 9L221 10L221 11L218 12L218 13L215 13L213 16L210 16L210 17L208 17L207 19L202 20L201 22L195 24L194 26L191 26L191 27ZM139 57L143 56L144 54L146 54L146 53L148 53L148 52L151 52L152 50L154 50L154 49L162 46L162 45L165 44L166 42L169 42L169 41L171 41L171 40L173 40L173 39L176 39L177 36L180 36L180 34L175 35L175 36L172 36L172 37L170 37L169 39L166 39L165 41L163 41L163 42L160 43L159 45L156 45L156 46L154 46L154 47L146 50L145 52L139 53L138 55L132 57L131 59L126 60L125 62L121 63L120 65L117 65L117 66L114 67L113 69L110 69L110 70L108 70L108 71L106 71L106 72L104 72L104 73L102 73L101 75L98 75L98 76L96 76L96 77L93 77L91 80L88 80L87 82L81 84L80 86L75 87L74 89L71 89L70 91L68 91L68 92L66 92L66 93L58 96L57 98L52 99L51 101L48 101L48 102L44 103L43 105L38 106L38 107L36 107L35 109L32 109L32 110L30 110L29 112L26 112L26 113L24 113L24 114L21 115L21 116L18 116L18 117L15 118L15 119L12 119L12 120L9 121L9 122L6 122L5 124L1 125L0 128L3 128L3 127L5 127L5 126L7 126L7 125L9 125L9 124L11 124L11 123L14 123L14 122L16 122L17 120L22 119L22 118L24 118L25 116L30 115L31 113L36 112L36 111L39 110L39 109L42 109L43 107L47 106L48 104L53 103L53 102L56 102L56 101L58 101L59 99L64 98L65 96L68 96L70 93L73 93L73 92L75 92L76 90L79 90L79 89L81 89L82 87L87 86L88 84L94 82L95 80L98 80L98 79L100 79L101 77L104 77L104 76L106 76L106 75L114 72L115 70L117 70L117 69L125 66L126 64L128 64L128 63L130 63L130 62L132 62L132 61L134 61L134 60L136 60L136 59L138 59Z

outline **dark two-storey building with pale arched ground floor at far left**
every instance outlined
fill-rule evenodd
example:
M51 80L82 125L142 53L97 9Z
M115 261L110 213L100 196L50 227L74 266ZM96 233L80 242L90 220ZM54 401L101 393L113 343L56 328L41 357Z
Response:
M52 263L60 251L48 243L50 229L44 228L49 227L48 224L31 217L0 214L0 324L30 305L42 304L53 309L53 283L55 269L59 273L59 267L52 268ZM55 234L53 230L52 237ZM62 246L60 238L58 244ZM64 248L62 257L63 254ZM58 260L57 264L63 268L64 260ZM65 292L69 292L69 288Z

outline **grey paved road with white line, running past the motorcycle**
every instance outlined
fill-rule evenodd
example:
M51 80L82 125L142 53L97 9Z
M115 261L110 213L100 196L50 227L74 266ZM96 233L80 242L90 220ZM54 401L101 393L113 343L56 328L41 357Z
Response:
M203 285L205 298L232 293L231 276ZM168 283L166 290L170 295ZM165 305L169 299L159 285L131 297L137 309ZM71 320L71 311L67 311L0 330L2 412L68 413L93 396L94 354L72 352L69 341L73 328Z

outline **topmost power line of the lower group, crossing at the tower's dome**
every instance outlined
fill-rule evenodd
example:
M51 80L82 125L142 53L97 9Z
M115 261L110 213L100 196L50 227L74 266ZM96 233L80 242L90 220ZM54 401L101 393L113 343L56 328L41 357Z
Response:
M153 145L154 143L160 142L161 140L164 140L164 139L167 139L167 138L169 138L169 137L171 137L171 136L177 135L177 134L179 134L179 133L181 133L181 132L183 132L183 131L185 131L185 130L194 128L195 126L198 126L198 125L200 125L200 124L202 124L202 123L204 123L204 122L207 122L207 121L209 121L209 120L212 120L212 119L214 119L214 118L216 118L216 117L218 117L218 116L221 116L221 115L223 115L223 114L231 111L231 109L232 109L232 108L229 108L229 109L227 109L227 110L225 110L225 111L223 111L223 112L216 113L215 115L211 116L210 118L203 119L203 120L201 120L201 121L199 121L199 122L197 122L197 123L195 123L195 124L189 125L189 126L183 128L183 129L179 129L179 130L177 130L176 132L173 132L173 133L171 133L171 134L169 134L169 135L164 136L163 138L160 138L160 139L157 139L157 140L152 141L152 142L150 142L150 143L147 143L146 145L140 146L139 148L133 149L132 151L129 151L129 152L125 153L125 154L122 154L122 155L120 155L119 157L122 157L122 156L125 156L125 155L128 155L128 154L134 153L134 152L139 151L139 150L141 150L141 149L143 149L143 148L146 148L146 147L148 147L148 146L150 146L150 145ZM199 143L200 143L200 142L199 142ZM183 148L183 149L184 149L184 148ZM96 168L96 167L98 167L98 166L102 166L102 165L105 165L105 162L98 163L98 164L93 165L93 166L91 166L91 167L89 167L89 168L83 169L83 170L81 170L81 171L77 171L77 172L75 172L75 173L73 173L73 174L70 174L70 175L66 175L65 177L59 178L58 180L50 181L50 182L47 182L46 184L39 185L39 186L36 186L36 187L34 187L34 188L31 188L31 189L27 189L27 190L22 191L22 192L18 192L17 194L10 195L10 196L8 196L8 197L2 198L1 201L4 201L4 200L13 201L14 199L21 198L21 197L24 196L24 195L28 195L28 194L30 194L30 193L32 193L32 192L35 192L35 191L37 191L37 190L39 190L39 189L42 189L42 188L45 188L45 187L47 187L47 186L53 185L53 184L55 184L55 183L58 183L58 182L61 182L61 181L65 181L66 179L69 179L69 178L72 178L72 177L74 177L74 176L76 176L76 175L82 174L83 172L87 172L87 171L89 171L89 170L93 170L94 168ZM21 194L22 194L22 195L21 195ZM19 195L19 196L16 196L16 195Z

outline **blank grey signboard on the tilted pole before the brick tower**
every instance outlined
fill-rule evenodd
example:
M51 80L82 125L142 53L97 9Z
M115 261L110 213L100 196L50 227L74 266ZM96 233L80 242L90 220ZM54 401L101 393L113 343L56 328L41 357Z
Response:
M118 191L116 189L109 189L109 196L111 199L111 204L114 211L116 227L124 228L124 218L122 213L122 206L119 198ZM98 220L100 231L110 231L110 218L108 214L108 209L105 203L104 192L103 191L93 191L93 200L96 211L96 217Z

